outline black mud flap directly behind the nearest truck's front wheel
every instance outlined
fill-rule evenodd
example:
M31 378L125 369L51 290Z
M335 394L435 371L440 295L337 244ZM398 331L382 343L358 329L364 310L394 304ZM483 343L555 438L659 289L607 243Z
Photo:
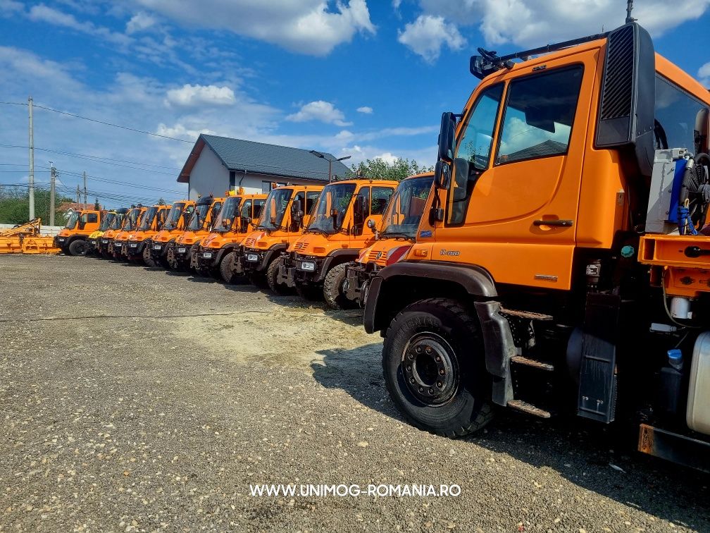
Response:
M506 406L513 399L513 380L510 377L510 357L518 353L510 333L510 324L499 313L497 301L476 302L476 313L481 321L486 350L486 370L493 377L493 403Z

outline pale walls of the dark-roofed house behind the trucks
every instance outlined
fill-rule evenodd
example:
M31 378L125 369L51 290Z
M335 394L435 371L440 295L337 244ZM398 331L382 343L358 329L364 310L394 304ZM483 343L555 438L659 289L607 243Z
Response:
M247 172L245 176L244 171L236 171L234 176L235 190L239 189L240 182L244 192L252 194L268 193L268 190L270 190L269 184L272 182L293 185L325 184L322 181L283 178L251 172ZM229 170L222 164L222 160L214 154L212 149L209 149L209 146L205 146L190 173L190 200L197 200L198 195L207 196L213 194L214 196L222 196L224 191L229 188Z

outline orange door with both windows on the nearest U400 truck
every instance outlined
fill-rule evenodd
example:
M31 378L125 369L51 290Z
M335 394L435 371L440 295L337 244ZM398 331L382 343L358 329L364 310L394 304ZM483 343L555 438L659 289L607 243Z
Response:
M596 52L513 70L459 130L432 259L498 283L569 289ZM507 79L506 79L507 78Z

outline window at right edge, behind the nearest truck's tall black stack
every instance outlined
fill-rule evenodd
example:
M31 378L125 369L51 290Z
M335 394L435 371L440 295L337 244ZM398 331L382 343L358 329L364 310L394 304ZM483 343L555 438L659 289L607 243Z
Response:
M656 149L684 148L696 152L695 120L702 109L707 106L656 75Z

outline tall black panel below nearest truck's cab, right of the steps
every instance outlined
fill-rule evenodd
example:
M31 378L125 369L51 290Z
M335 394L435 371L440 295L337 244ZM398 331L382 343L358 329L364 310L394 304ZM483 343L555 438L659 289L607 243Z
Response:
M608 424L616 414L616 344L621 298L589 294L581 340L577 414Z

